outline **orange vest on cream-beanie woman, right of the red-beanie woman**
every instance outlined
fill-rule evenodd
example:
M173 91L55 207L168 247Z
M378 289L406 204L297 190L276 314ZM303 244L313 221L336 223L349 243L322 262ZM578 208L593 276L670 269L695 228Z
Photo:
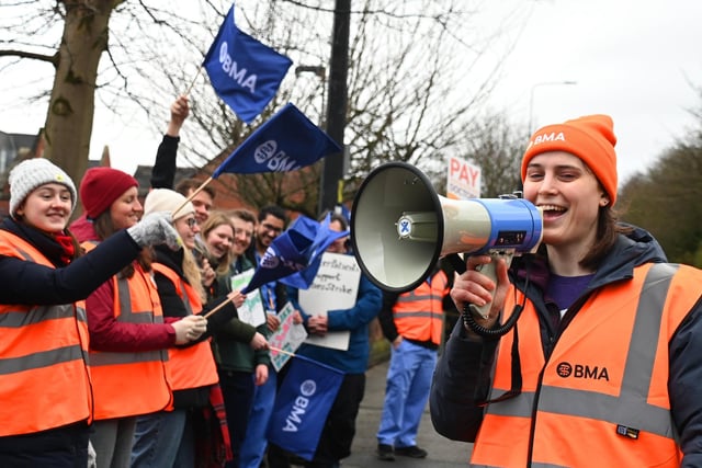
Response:
M154 263L152 267L173 283L190 315L202 310L200 296L178 273L162 263ZM210 340L188 347L171 347L168 354L167 368L173 390L199 388L219 381Z

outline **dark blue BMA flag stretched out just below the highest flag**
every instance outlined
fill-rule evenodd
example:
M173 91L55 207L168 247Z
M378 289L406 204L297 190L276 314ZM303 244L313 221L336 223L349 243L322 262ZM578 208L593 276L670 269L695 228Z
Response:
M288 172L341 151L341 147L313 124L295 105L287 103L258 127L215 169L219 174Z

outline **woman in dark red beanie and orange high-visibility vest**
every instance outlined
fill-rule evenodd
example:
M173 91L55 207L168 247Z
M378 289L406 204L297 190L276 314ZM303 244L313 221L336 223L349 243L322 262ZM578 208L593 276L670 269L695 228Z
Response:
M125 172L86 172L79 189L83 215L71 225L83 250L137 224L144 212L137 192L136 179ZM149 252L141 250L86 300L94 397L90 442L98 466L129 466L137 415L173 402L167 350L196 340L207 326L197 316L165 320Z

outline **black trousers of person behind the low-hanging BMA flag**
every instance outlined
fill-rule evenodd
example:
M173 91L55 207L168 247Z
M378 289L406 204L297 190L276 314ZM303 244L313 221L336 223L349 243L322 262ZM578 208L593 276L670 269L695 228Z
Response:
M355 436L355 419L365 392L365 374L347 374L333 400L329 415L317 444L312 461L306 468L332 468L339 460L351 455L351 444ZM269 444L269 468L290 468L292 456L282 448Z

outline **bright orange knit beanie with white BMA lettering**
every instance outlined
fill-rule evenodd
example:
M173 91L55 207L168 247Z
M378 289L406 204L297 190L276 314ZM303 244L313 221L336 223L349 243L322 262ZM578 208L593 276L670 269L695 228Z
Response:
M537 129L529 140L522 158L522 182L526 176L529 161L542 152L566 151L580 158L616 202L616 137L614 124L609 115L586 115L563 124L547 125Z

